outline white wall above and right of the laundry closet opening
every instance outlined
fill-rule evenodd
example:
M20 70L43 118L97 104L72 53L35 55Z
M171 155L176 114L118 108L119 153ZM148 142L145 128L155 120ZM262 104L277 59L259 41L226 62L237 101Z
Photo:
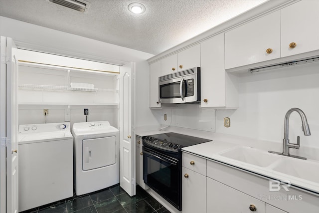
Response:
M103 63L123 65L136 62L136 123L156 125L149 109L149 65L154 56L146 52L121 47L82 36L0 16L0 35L13 38L18 48L52 53Z

